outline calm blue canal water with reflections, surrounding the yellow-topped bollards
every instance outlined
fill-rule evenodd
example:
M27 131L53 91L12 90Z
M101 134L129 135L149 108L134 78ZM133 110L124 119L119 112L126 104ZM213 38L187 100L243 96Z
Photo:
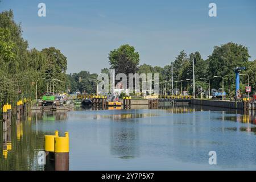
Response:
M0 126L0 169L43 170L44 135L59 130L69 132L71 170L255 170L255 123L254 113L191 105L32 113Z

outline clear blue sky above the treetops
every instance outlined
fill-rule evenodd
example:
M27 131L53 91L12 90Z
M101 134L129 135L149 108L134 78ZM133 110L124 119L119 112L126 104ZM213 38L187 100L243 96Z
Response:
M47 16L38 16L44 2ZM217 17L208 16L209 3ZM163 67L183 49L204 59L228 42L249 48L256 59L256 1L161 0L2 0L0 11L14 10L30 48L56 47L68 57L68 73L109 68L108 53L130 44L141 64Z

